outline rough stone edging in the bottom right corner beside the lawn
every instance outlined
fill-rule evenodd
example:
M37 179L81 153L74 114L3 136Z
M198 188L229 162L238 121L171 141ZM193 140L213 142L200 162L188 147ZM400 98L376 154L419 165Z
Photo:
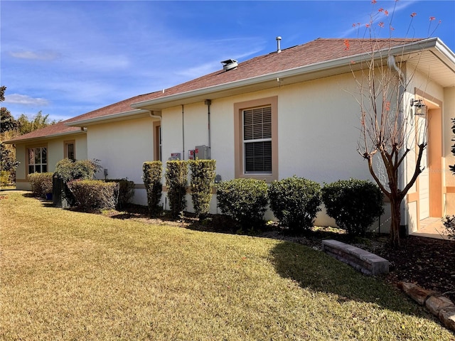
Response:
M455 304L436 291L419 288L413 283L400 282L398 288L404 291L419 305L424 305L441 323L455 332Z

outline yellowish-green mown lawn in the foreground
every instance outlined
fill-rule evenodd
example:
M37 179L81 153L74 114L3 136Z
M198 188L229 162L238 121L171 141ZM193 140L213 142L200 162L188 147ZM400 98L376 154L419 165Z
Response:
M0 194L1 340L454 340L381 278L304 245Z

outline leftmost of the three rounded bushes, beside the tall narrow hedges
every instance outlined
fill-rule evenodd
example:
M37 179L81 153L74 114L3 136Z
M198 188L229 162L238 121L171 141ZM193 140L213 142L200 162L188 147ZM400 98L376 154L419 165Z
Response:
M245 230L264 224L267 210L267 183L263 180L238 178L222 181L217 188L218 207Z

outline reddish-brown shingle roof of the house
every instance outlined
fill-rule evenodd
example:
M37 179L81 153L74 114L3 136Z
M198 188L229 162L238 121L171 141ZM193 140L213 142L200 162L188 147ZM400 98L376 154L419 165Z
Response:
M385 48L393 48L407 43L415 43L423 38L392 38L392 39L377 39L374 40L374 50L382 50ZM139 112L138 109L133 109L131 106L134 103L158 99L161 97L170 96L173 94L181 94L183 92L191 92L193 90L214 87L216 85L228 84L239 80L247 80L261 75L272 74L284 70L291 70L296 67L304 67L316 63L323 63L329 60L339 58L348 58L349 56L370 53L372 51L372 40L363 39L325 39L318 38L303 45L296 45L291 48L286 48L277 53L269 53L238 63L235 70L225 72L223 69L212 72L208 75L198 77L194 80L184 82L180 85L170 87L164 91L151 92L149 94L141 94L129 99L124 99L121 102L110 104L107 107L96 109L92 112L87 112L72 119L60 122L53 126L45 127L38 131L33 131L30 134L18 136L11 141L20 141L23 139L36 139L43 136L52 136L55 134L65 134L72 131L77 131L80 128L65 126L75 121L86 119L95 119L99 117L107 117L112 114L123 112Z

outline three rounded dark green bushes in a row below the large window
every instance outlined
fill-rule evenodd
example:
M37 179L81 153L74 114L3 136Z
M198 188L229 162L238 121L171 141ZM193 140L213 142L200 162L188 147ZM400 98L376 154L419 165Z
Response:
M323 188L293 176L270 186L255 179L224 181L217 189L218 207L242 228L263 225L267 204L279 223L299 233L313 226L323 203L327 214L348 234L363 235L382 213L383 195L377 185L365 180L338 180Z

